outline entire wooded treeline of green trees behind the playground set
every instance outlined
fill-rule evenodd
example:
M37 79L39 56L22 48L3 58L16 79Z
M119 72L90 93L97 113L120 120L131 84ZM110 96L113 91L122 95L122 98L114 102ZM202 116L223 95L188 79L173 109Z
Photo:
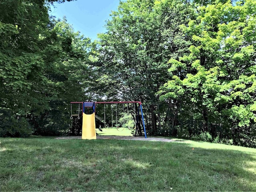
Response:
M0 2L1 136L69 134L70 101L140 100L150 135L256 147L256 1L127 0L98 42L52 2Z

